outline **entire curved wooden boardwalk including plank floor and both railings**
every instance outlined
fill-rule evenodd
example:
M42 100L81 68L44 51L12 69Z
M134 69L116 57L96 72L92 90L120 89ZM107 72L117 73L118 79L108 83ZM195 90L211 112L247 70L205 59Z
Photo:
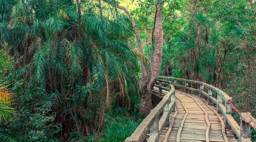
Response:
M125 142L252 142L256 119L212 85L159 76L151 94L162 100ZM232 110L240 115L240 126Z

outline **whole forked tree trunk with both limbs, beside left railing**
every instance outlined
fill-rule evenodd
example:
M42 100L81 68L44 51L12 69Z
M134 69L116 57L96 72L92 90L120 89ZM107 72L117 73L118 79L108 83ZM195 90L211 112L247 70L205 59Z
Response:
M123 6L116 5L116 8L123 10L127 16L130 18L130 21L132 22L132 26L134 29L135 37L138 42L138 48L140 53L143 54L143 48L141 44L141 40L139 37L139 32L137 29L137 26L135 24L135 21L132 18L132 15L127 11L127 9ZM157 5L157 13L156 13L156 23L155 23L155 29L156 29L156 47L154 50L154 59L153 59L153 66L151 68L151 71L147 73L146 70L146 64L145 60L141 57L141 66L142 66L142 72L143 72L143 81L141 82L142 91L140 92L141 98L140 98L140 112L144 113L145 115L148 115L150 113L150 110L152 107L151 97L150 97L150 90L153 89L153 85L156 83L156 79L159 76L160 68L161 68L161 61L162 61L162 53L163 53L163 41L164 41L164 32L162 28L162 8L163 4ZM154 43L152 43L154 44Z

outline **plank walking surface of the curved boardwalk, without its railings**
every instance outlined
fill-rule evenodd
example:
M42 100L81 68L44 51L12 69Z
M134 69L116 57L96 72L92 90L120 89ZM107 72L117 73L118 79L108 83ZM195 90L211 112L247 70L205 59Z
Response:
M163 93L166 93L165 91ZM163 142L237 142L230 131L228 137L222 117L216 112L216 108L207 105L202 99L190 94L175 92L176 113L174 123L170 122L170 128L164 129L159 141ZM169 131L168 131L169 130Z

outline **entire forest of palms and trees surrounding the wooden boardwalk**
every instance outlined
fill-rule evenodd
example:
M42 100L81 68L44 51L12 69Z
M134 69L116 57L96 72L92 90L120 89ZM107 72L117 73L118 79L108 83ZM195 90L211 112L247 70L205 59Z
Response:
M0 141L124 141L158 75L255 117L255 16L254 0L0 0Z

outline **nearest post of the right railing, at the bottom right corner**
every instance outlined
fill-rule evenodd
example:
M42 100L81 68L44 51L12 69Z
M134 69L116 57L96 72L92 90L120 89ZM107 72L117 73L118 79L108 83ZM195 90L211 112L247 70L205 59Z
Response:
M246 142L246 139L251 139L251 126L244 121L246 113L241 113L240 117L240 142Z

